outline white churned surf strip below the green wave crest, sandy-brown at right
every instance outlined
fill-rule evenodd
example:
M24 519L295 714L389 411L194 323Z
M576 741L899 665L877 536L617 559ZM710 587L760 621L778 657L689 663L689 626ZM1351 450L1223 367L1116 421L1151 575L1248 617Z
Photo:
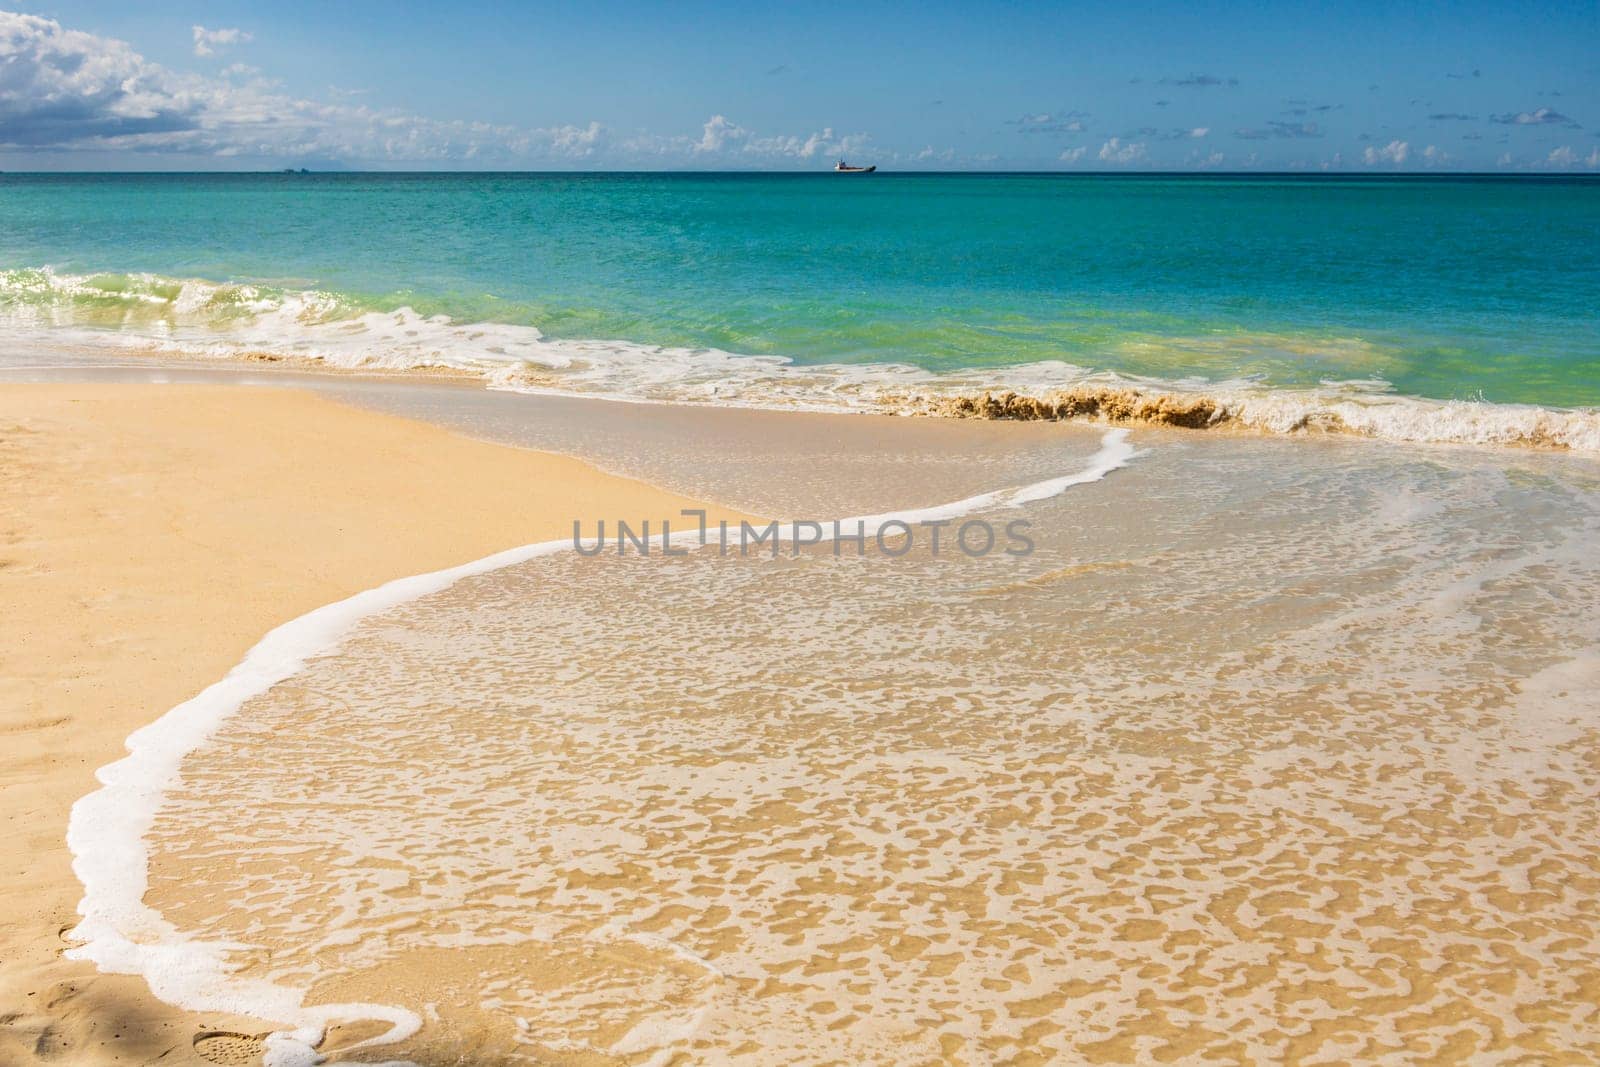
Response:
M250 285L192 285L214 293L254 291ZM1381 376L1325 379L1318 386L1261 386L1248 378L1150 378L1061 360L942 371L909 363L797 363L781 355L546 338L533 326L424 318L410 307L310 325L298 318L293 325L270 318L242 330L192 323L128 333L51 326L29 334L27 344L179 365L418 376L512 394L635 405L1061 421L1600 456L1597 406L1411 395L1394 392ZM1294 347L1288 341L1282 344ZM1339 344L1358 342L1341 339Z

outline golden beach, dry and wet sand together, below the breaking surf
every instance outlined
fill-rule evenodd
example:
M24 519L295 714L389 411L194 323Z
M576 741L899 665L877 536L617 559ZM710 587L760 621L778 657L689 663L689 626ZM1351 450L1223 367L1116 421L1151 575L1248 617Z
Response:
M6 1064L291 1019L62 958L70 806L278 624L574 518L1019 486L1027 558L560 552L378 613L189 752L144 902L419 1019L334 1061L1592 1059L1579 458L72 373L182 384L0 389Z

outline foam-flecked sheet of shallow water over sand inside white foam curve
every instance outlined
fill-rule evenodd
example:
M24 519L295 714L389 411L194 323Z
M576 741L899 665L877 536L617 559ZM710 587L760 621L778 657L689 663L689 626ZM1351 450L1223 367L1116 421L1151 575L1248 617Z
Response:
M1600 486L1349 454L469 579L189 760L150 901L419 1062L1595 1062Z

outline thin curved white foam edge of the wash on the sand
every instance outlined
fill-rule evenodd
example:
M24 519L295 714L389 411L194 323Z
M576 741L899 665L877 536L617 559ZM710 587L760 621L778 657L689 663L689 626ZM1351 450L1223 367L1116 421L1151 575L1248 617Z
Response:
M1064 493L1074 485L1098 482L1138 454L1141 453L1128 443L1128 430L1109 430L1101 438L1099 451L1077 474L1019 490L982 493L952 504L858 515L840 520L838 526L856 523L861 533L872 534L891 522L939 522L989 507L1019 507ZM795 541L798 525L781 526L779 536ZM677 536L690 537L698 533ZM651 542L664 544L664 539L656 536ZM246 701L299 673L312 657L334 651L357 622L437 593L464 577L571 547L573 541L565 539L509 549L461 566L400 577L317 608L269 632L221 681L130 734L128 755L102 766L96 773L101 787L72 805L67 846L72 849L72 870L83 883L83 899L78 902L82 921L72 931L80 944L67 950L67 957L93 961L101 971L141 974L155 997L179 1008L291 1024L291 1029L269 1035L264 1059L267 1067L322 1062L317 1045L333 1022L376 1019L389 1024L389 1030L360 1045L389 1045L416 1033L422 1021L403 1008L368 1003L306 1006L306 990L235 977L227 955L243 945L184 937L144 902L150 865L146 833L155 822L166 790L178 784L182 760Z

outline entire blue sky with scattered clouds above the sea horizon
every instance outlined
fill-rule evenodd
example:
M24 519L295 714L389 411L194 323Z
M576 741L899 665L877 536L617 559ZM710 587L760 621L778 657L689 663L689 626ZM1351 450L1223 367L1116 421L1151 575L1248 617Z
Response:
M1595 0L1120 6L45 3L0 170L1600 171Z

